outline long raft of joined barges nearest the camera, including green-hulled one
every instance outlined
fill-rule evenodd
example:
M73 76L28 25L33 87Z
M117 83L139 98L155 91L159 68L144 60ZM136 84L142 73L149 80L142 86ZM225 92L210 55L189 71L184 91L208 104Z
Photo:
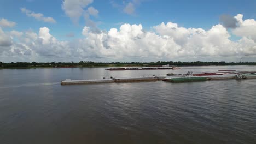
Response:
M195 82L207 80L224 80L224 79L256 79L256 73L246 71L241 73L237 71L229 71L223 73L200 73L193 74L188 71L187 74L172 74L172 75L153 75L153 76L139 76L139 77L110 77L110 79L95 79L95 80L70 80L61 81L61 85L75 85L86 83L113 83L113 82L143 82L143 81L169 81L169 82Z

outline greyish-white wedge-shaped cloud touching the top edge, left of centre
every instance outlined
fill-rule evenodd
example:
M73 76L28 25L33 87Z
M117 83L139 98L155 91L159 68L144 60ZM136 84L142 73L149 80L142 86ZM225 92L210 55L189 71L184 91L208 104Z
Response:
M64 0L62 9L74 23L78 24L80 17L84 13L84 8L92 2L93 0Z

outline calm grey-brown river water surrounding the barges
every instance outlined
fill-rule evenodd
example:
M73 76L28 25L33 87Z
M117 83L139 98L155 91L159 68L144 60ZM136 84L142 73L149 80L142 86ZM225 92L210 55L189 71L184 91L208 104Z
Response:
M256 143L256 79L61 86L256 67L0 69L0 143Z

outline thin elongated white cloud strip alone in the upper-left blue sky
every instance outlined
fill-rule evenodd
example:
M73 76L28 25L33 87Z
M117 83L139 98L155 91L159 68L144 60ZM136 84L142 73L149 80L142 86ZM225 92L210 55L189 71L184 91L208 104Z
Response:
M22 13L25 13L28 17L34 17L34 19L37 19L38 21L56 23L56 21L53 19L53 17L44 17L43 14L34 13L33 11L28 10L26 8L21 8L20 10Z

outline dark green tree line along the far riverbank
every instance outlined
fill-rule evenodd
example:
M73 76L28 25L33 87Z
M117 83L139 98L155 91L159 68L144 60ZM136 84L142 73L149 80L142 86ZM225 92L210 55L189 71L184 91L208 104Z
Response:
M158 62L92 62L92 61L80 61L80 62L0 62L2 68L29 68L29 67L124 67L124 66L200 66L200 65L256 65L256 62L173 62L173 61L158 61Z

